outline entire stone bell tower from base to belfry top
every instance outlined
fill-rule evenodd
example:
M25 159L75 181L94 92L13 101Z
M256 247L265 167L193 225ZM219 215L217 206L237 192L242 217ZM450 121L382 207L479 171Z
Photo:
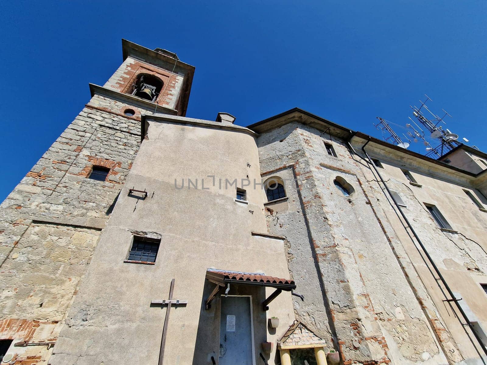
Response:
M194 67L122 47L120 67L90 84L89 102L0 205L0 340L19 364L49 360L51 347L15 343L56 343L139 149L142 115L186 114Z

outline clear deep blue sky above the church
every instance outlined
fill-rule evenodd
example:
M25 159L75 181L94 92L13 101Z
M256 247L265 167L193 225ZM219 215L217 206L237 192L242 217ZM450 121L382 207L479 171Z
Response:
M426 93L487 151L485 0L2 1L0 11L0 201L88 102L88 83L121 63L121 38L196 67L189 117L226 111L246 126L300 107L380 138L376 116L405 125Z

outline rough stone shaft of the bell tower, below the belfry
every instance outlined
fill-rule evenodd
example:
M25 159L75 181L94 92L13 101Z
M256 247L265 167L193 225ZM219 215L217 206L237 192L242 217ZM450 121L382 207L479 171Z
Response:
M14 340L15 364L47 364L45 342L56 341L137 153L141 113L95 95L0 205L0 339ZM105 182L87 179L93 165L111 169ZM24 341L37 345L15 346Z

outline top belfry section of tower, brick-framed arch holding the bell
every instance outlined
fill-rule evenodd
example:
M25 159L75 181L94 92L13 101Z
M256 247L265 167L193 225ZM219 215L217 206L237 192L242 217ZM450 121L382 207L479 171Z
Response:
M194 67L175 53L150 50L122 39L123 63L103 86L90 84L92 96L102 95L147 113L185 116ZM125 114L125 113L124 113Z

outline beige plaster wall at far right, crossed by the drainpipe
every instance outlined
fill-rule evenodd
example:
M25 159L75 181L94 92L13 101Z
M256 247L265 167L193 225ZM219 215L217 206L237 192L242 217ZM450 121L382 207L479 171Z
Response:
M384 166L379 170L381 175L390 189L396 191L405 202L406 207L401 209L411 221L414 230L451 290L458 293L458 297L463 298L461 304L466 306L464 310L469 312L469 319L482 324L487 323L485 310L483 310L487 297L480 287L480 283L487 282L485 239L487 213L480 211L465 194L464 189L474 191L474 187L465 181L435 178L425 172L420 164L404 166L398 164L391 156L389 156L390 161L387 160L386 155L380 158ZM413 177L421 186L412 185L405 178L401 168L412 171ZM437 330L442 345L448 348L453 346L451 342L456 343L452 350L456 350L461 356L452 359L455 362L463 357L466 359L466 364L482 364L479 352L475 350L472 341L468 338L465 327L453 315L454 305L445 305L443 302L450 297L444 295L436 284L431 274L431 265L425 264L424 253L418 252L417 243L415 245L404 231L401 220L394 213L391 200L387 200L388 197L377 185L377 178L369 173L369 179L378 198L375 204L390 218L405 253L411 259L415 271L420 274L434 301L435 311L439 313L443 323L443 326L438 326ZM434 204L455 232L442 231L426 210L424 203ZM431 304L428 307L431 310ZM445 326L448 335L447 338L442 338L447 331Z

